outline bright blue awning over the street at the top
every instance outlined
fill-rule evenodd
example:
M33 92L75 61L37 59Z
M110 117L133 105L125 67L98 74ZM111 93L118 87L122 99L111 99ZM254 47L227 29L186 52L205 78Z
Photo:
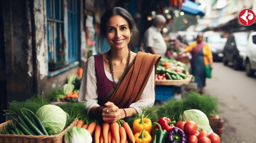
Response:
M186 2L182 3L181 11L187 14L195 15L195 16L197 15L201 17L204 16L204 12L201 11L198 7L199 7L199 4L186 0Z

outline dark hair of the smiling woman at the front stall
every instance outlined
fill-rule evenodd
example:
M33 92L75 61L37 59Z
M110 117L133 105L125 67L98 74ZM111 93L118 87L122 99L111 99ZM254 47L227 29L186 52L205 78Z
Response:
M130 15L130 13L121 7L111 8L107 10L101 17L99 41L101 41L101 43L103 42L104 37L106 36L106 31L107 31L106 24L112 16L116 16L116 15L122 16L129 24L129 29L130 29L130 32L132 32L132 36L130 38L130 42L128 43L128 48L133 51L138 42L139 30L136 27L135 22L132 16ZM100 44L100 46L102 45Z

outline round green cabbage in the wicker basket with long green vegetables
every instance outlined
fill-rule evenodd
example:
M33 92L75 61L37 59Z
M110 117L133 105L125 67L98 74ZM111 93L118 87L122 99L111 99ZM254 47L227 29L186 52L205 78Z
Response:
M55 134L60 133L66 124L67 115L59 106L44 105L37 110L44 127L51 127Z

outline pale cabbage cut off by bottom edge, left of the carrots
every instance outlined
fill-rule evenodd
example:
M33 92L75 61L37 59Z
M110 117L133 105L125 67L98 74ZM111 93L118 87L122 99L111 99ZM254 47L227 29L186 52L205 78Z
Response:
M89 131L81 127L72 127L65 133L65 143L91 143L92 137Z

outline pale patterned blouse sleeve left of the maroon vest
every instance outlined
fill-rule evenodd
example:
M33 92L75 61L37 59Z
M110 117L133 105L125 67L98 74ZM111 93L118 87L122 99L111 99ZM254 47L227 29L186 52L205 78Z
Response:
M97 80L95 74L94 56L87 59L83 70L82 81L78 94L78 101L84 103L86 111L93 106L100 106L97 104L98 92L97 92Z

